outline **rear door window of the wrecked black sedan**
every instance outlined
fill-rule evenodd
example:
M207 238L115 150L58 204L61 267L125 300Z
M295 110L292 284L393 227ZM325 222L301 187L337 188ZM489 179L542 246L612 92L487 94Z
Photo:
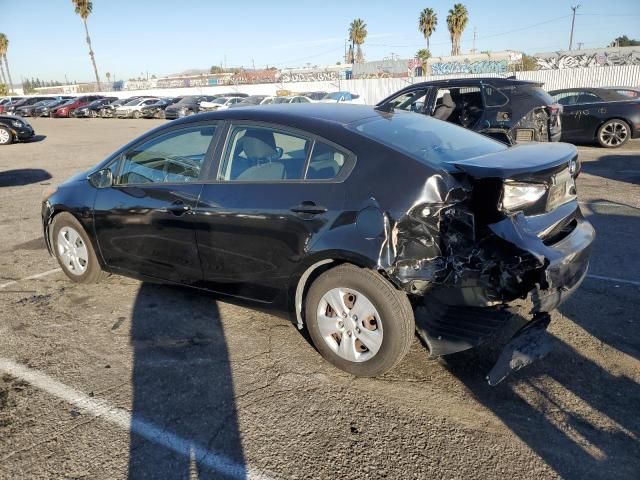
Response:
M301 179L311 140L266 127L231 130L219 180Z

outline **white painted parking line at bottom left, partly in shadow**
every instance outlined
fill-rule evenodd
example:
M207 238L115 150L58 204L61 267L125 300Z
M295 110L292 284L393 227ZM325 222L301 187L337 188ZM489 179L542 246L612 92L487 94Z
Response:
M16 363L11 359L0 357L0 371L28 382L34 387L87 413L104 419L123 430L134 432L136 435L168 448L179 455L184 455L186 458L195 457L196 462L206 465L220 475L238 479L273 480L272 477L263 474L254 467L236 463L225 455L213 452L189 439L170 433L151 422L131 415L130 412L122 408L110 405L105 400L90 397L45 373ZM0 458L0 462L2 461L4 461L4 458Z

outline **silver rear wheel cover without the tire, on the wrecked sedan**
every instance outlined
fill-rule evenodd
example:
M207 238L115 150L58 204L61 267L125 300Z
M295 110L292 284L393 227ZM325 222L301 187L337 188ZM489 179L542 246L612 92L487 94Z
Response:
M382 321L371 301L350 288L333 288L322 296L318 328L329 348L350 362L373 358L382 346Z

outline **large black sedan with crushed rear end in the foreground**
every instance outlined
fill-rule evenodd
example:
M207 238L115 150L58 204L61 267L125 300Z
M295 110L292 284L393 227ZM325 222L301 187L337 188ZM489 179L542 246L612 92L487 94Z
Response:
M529 296L495 384L519 349L544 354L548 312L586 274L578 167L572 145L507 147L413 113L245 107L148 132L60 185L42 217L71 280L284 306L355 375L392 368L416 330L433 355L474 347Z

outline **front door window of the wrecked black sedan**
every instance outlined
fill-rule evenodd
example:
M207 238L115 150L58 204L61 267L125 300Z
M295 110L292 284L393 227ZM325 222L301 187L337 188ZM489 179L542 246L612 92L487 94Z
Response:
M198 180L214 134L214 125L201 125L174 130L134 147L124 156L117 184Z

